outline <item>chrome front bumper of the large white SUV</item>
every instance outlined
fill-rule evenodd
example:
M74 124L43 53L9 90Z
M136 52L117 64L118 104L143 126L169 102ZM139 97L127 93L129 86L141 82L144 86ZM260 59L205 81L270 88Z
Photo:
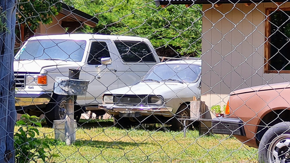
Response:
M31 106L49 103L53 92L16 91L15 106Z

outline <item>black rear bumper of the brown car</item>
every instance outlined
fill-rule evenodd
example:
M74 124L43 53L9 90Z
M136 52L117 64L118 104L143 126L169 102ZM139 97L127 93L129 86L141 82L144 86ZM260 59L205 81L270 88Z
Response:
M238 118L218 117L212 119L212 132L215 134L246 136L244 123Z

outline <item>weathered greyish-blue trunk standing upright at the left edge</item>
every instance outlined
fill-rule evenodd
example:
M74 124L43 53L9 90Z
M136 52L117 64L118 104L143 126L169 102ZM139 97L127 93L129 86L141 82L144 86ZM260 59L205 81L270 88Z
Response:
M15 84L13 73L16 9L14 0L0 0L5 17L0 23L0 162L14 163Z

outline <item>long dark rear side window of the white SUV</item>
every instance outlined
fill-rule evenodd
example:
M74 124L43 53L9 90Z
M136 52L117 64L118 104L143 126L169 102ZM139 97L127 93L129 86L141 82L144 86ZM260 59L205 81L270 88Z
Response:
M115 41L115 44L124 62L155 62L145 42Z

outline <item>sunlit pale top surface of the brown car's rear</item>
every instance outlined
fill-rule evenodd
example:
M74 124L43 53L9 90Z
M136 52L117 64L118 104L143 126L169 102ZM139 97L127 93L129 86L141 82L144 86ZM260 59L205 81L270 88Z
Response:
M285 88L290 88L290 82L266 84L266 85L259 85L259 86L255 86L255 87L239 89L239 90L231 92L230 95L236 95L236 94L248 93L248 92L264 91L264 90L270 90L270 89L285 89Z

